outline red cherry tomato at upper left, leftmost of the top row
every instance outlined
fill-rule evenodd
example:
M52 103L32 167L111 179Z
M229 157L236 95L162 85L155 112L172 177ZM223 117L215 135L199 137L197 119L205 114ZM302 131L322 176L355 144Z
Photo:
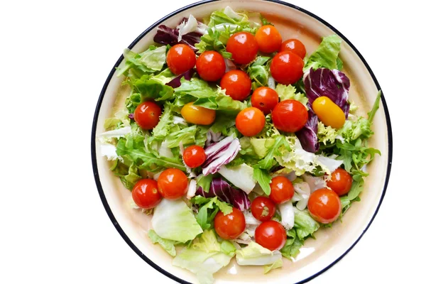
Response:
M180 75L194 68L195 61L194 51L185 44L173 45L167 53L167 65L174 75Z

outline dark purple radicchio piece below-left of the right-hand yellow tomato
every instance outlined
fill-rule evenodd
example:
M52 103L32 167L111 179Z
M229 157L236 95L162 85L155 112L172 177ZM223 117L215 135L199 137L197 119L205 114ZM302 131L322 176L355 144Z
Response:
M296 136L305 151L315 153L320 150L320 143L318 143L317 138L318 116L312 110L309 110L307 114L307 122L300 131L296 132Z

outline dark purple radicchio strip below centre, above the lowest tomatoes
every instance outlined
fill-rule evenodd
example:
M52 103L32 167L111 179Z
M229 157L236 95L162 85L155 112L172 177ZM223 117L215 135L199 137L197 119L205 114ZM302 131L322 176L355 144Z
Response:
M212 180L209 192L204 192L202 187L198 187L195 195L202 195L203 197L207 198L217 196L219 200L232 204L241 211L250 208L250 200L246 195L246 192L231 187L231 185L229 185L228 182L222 180L222 178L214 178Z

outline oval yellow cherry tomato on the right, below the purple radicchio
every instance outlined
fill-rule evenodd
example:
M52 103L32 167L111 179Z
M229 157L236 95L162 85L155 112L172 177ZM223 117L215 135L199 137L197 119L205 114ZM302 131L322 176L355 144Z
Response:
M312 109L325 126L332 126L334 129L341 128L346 120L342 109L328 97L315 99Z

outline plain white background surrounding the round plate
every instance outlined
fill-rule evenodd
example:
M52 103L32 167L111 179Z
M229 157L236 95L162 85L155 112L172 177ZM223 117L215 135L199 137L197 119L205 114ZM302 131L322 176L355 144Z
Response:
M425 10L421 1L381 2L292 1L364 55L386 96L394 138L375 221L312 283L422 282ZM190 3L1 1L0 283L173 283L109 221L92 175L90 134L99 92L122 50Z

